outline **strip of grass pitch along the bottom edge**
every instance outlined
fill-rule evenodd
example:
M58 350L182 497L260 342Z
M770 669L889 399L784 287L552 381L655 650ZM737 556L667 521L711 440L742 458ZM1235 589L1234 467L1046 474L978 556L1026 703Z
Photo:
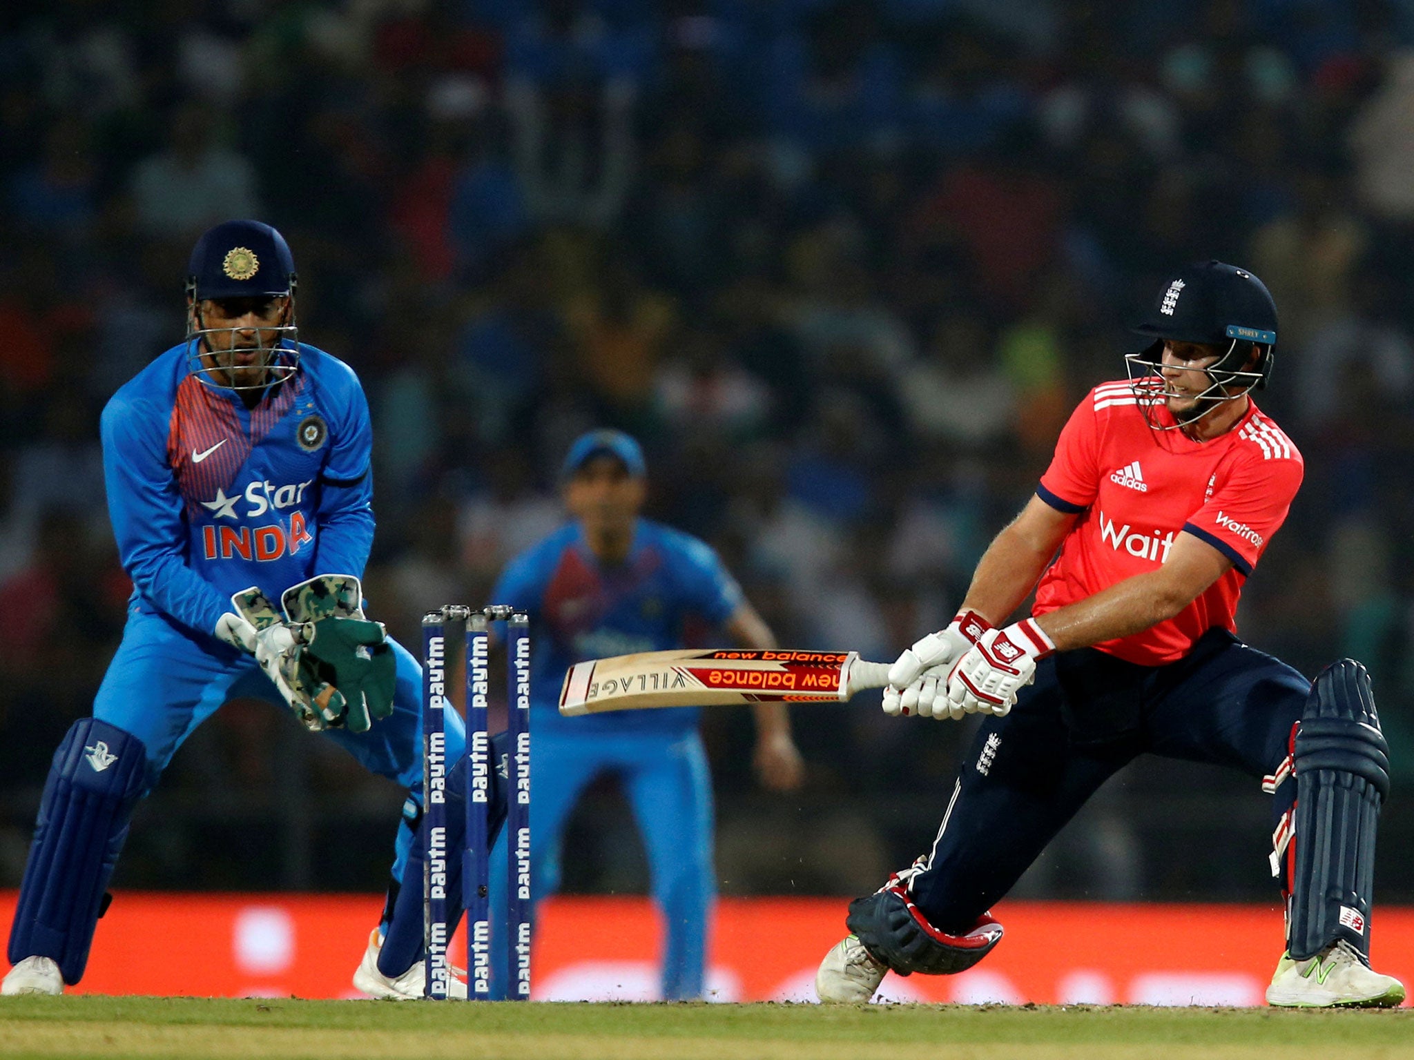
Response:
M1414 1060L1414 1011L6 998L8 1060Z

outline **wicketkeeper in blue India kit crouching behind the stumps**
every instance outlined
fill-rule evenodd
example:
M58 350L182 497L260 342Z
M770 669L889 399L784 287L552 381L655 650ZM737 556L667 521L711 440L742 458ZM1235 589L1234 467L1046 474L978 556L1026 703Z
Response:
M238 697L287 704L407 787L387 909L354 984L378 998L423 995L421 886L399 889L420 856L421 671L363 616L368 401L348 365L298 341L294 308L280 233L218 225L191 254L187 338L103 410L109 517L134 588L93 717L54 755L0 995L79 982L134 806ZM447 729L461 760L461 719L450 714ZM464 814L448 820L460 828ZM410 872L421 881L420 864Z

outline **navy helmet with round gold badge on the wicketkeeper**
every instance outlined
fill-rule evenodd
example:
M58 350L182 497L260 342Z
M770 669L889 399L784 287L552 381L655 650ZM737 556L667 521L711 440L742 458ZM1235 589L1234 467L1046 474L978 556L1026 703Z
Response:
M298 328L294 324L294 256L276 229L259 220L226 220L208 229L192 247L187 266L187 362L191 372L211 386L229 390L264 389L296 373L300 365ZM291 300L283 324L255 331L260 363L267 369L259 383L239 384L229 365L218 363L211 338L238 328L208 328L201 302L226 298ZM229 343L229 341L228 341ZM226 379L228 382L221 382Z

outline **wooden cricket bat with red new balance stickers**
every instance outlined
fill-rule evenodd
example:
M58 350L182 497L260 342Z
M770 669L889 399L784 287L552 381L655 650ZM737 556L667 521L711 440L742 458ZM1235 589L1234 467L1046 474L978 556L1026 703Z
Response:
M888 684L888 663L858 652L674 650L575 663L560 688L560 714L744 702L844 702Z

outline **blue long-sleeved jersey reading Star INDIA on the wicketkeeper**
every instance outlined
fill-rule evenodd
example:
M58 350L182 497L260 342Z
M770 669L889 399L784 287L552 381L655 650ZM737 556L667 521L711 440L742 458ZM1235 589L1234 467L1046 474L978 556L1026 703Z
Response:
M362 577L373 541L372 427L354 370L300 346L255 408L173 346L103 408L109 517L132 608L209 635L230 594Z

